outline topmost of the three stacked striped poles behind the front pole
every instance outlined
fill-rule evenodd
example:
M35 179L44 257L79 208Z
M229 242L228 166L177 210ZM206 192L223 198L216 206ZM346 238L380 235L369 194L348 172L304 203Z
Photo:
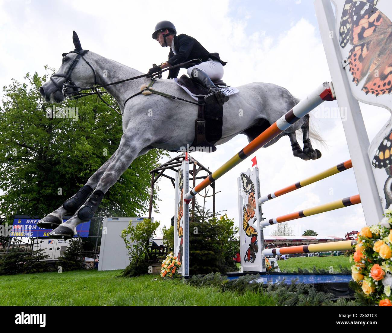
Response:
M280 197L283 194L295 191L296 189L307 186L307 185L312 184L314 182L318 182L321 179L328 178L332 175L336 175L337 173L345 171L350 168L352 168L351 160L340 163L337 166L331 167L323 172L318 173L317 175L306 178L304 180L300 180L299 182L296 182L295 184L284 187L283 189L279 189L278 191L275 191L273 193L265 195L264 197L260 197L259 203L262 204L263 202L266 202L266 201L271 200L276 197Z

